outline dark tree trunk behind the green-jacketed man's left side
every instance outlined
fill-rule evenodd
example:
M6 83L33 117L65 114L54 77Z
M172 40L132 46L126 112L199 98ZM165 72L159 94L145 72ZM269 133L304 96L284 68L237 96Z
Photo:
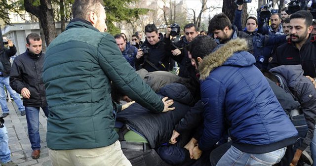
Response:
M48 46L57 36L51 0L40 0L40 6L34 6L31 0L24 0L24 7L27 12L39 18L40 25L43 27L46 46Z

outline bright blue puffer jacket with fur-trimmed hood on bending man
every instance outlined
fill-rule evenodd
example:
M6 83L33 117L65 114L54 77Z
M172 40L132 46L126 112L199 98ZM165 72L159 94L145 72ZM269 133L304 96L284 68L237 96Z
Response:
M267 153L295 143L294 125L246 49L246 41L232 40L204 57L199 66L203 151L227 129L233 145L246 153Z

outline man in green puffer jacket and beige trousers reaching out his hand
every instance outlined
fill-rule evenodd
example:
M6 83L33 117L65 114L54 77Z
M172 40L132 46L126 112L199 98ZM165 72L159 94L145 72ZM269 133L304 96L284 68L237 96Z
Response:
M100 0L75 0L74 19L46 50L42 79L50 110L47 146L53 166L130 166L114 130L111 82L153 112L160 97L123 58L105 24Z

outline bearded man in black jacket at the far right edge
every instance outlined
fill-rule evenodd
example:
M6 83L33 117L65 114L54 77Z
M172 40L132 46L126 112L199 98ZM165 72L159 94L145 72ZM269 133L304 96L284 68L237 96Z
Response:
M305 76L316 77L316 37L311 35L312 22L313 15L306 10L290 16L290 39L277 47L269 68L301 64Z

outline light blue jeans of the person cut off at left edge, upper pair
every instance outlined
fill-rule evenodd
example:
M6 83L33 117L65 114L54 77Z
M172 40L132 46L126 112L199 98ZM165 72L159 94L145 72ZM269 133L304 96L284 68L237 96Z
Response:
M25 108L23 106L20 95L14 91L10 86L9 77L0 77L0 105L2 113L9 113L8 106L6 105L6 94L4 91L5 88L9 91L11 97L13 98L15 104L18 106L19 111L24 111Z

